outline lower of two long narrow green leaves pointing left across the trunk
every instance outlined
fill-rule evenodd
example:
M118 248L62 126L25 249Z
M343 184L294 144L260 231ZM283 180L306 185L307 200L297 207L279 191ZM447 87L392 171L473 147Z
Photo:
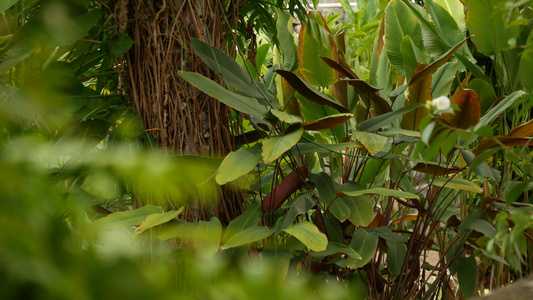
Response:
M269 111L254 98L232 93L198 73L180 71L179 74L202 92L240 112L256 117L269 115Z

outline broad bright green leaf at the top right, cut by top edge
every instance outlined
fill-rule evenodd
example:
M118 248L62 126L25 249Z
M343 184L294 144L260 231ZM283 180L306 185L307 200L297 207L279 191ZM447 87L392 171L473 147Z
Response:
M498 53L515 47L521 22L518 8L507 7L513 2L470 0L466 26L479 52Z

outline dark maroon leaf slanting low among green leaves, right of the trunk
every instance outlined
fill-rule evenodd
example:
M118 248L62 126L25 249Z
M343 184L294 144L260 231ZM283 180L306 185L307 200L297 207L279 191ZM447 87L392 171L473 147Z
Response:
M263 200L266 212L273 212L278 209L285 200L302 186L307 176L307 166L300 167L287 175Z

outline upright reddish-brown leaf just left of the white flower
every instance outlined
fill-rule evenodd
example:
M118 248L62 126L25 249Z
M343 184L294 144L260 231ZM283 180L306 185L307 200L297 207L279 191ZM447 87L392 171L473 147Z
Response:
M415 73L413 77L417 74L423 72L427 69L427 64L418 63L416 64ZM426 103L431 99L431 74L420 78L414 84L409 84L409 98L405 100L405 106L409 106L414 103ZM426 107L422 106L417 108L414 111L408 112L403 116L401 125L402 128L408 130L417 131L420 125L420 121L429 114Z

